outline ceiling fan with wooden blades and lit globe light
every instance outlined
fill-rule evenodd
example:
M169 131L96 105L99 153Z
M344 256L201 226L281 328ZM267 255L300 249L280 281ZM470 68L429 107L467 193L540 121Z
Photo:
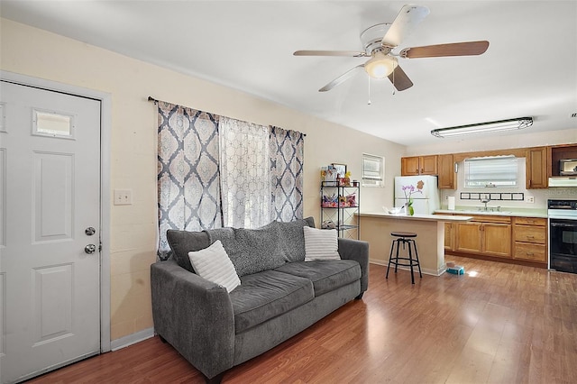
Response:
M330 91L352 78L357 69L364 69L371 78L389 78L398 91L413 87L403 69L398 66L398 58L437 58L446 56L481 55L489 48L489 41L463 41L448 44L426 45L405 48L398 53L392 50L408 36L418 23L429 14L426 6L404 5L393 23L381 23L367 28L361 33L364 51L355 50L297 50L295 56L345 56L353 58L371 58L363 64L343 73L320 88L319 92Z

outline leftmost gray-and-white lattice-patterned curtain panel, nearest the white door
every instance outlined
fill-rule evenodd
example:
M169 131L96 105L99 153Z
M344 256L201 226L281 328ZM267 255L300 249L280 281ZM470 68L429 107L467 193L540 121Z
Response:
M222 227L218 117L158 102L159 257L169 258L168 229Z

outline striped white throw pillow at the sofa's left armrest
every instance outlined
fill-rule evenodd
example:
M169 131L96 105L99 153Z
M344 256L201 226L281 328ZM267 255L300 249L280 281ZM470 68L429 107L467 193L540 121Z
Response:
M189 251L188 258L192 268L201 278L219 284L229 292L241 285L241 279L238 278L233 262L224 251L220 240L213 242L204 250Z

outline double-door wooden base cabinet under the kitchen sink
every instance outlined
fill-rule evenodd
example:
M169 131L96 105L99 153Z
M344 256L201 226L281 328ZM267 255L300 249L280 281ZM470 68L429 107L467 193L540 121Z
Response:
M476 215L456 224L454 251L511 258L511 218Z

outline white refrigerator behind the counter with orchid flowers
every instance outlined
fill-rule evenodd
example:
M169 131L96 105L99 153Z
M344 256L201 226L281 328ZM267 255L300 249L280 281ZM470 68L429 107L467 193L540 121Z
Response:
M436 176L397 176L395 177L395 206L405 206L410 187L415 215L432 215L441 206ZM405 190L403 190L405 187Z

